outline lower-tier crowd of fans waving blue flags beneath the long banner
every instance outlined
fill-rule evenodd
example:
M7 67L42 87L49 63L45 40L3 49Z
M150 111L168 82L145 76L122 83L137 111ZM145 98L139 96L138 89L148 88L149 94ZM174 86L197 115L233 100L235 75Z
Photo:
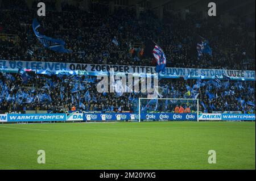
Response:
M24 78L23 78L24 79ZM138 111L138 98L147 92L123 94L98 92L100 80L82 75L28 75L24 82L19 73L0 73L0 110L56 111ZM255 112L255 82L214 80L162 79L158 94L162 98L199 98L202 112L242 111ZM152 105L151 105L152 106ZM147 111L155 110L156 104ZM189 105L188 105L189 106ZM158 111L172 111L167 110ZM194 110L195 111L195 110Z

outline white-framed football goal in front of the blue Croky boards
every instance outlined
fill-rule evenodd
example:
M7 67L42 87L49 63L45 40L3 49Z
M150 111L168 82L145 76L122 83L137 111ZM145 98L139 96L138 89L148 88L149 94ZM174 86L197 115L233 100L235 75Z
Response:
M183 107L184 113L175 111L177 106ZM139 98L138 107L139 122L142 120L199 121L199 99Z

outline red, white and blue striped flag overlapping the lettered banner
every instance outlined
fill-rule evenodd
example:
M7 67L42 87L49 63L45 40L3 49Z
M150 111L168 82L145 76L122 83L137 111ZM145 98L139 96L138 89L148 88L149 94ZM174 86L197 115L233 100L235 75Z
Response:
M143 53L144 57L154 57L156 61L156 72L164 72L166 70L166 55L163 50L154 43L154 41L147 40L146 47Z

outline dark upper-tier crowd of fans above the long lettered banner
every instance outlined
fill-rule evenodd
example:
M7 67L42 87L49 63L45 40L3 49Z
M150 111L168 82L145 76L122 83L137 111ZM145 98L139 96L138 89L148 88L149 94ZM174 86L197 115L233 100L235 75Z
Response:
M151 11L141 12L137 19L134 9L115 9L110 14L109 6L93 3L90 11L67 4L61 6L63 11L56 11L55 1L47 3L51 8L39 18L36 2L28 10L23 1L2 1L0 33L18 35L18 41L13 36L0 39L0 59L154 66L141 54L150 38L164 50L170 67L255 70L255 40L239 21L224 26L218 18L202 20L198 14L189 14L184 20L167 11L162 21ZM34 18L45 35L63 39L72 53L44 48L32 30ZM204 54L199 60L192 56L195 34L209 41L212 56ZM118 45L112 43L114 37Z

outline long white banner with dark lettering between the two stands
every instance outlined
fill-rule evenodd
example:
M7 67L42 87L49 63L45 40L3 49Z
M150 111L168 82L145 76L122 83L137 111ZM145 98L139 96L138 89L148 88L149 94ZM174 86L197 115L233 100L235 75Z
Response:
M53 73L61 71L78 71L89 75L102 75L108 73L113 68L120 73L155 73L152 66L126 66L126 65L98 65L98 64L73 64L64 62L37 62L37 61L9 61L0 60L1 71L17 71L19 68L44 73L48 70ZM187 69L187 68L167 68L166 73L160 74L164 78L180 78L190 76L191 78L213 79L215 75L222 79L222 74L235 80L255 81L255 71L250 70L222 70L222 69Z

